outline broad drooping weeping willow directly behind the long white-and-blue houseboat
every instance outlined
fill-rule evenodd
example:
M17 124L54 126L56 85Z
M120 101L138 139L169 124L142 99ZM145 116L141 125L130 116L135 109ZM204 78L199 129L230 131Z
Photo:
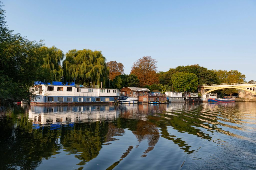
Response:
M105 87L109 75L109 68L106 66L106 58L101 51L89 49L69 50L66 59L63 61L64 80L76 84L101 85Z

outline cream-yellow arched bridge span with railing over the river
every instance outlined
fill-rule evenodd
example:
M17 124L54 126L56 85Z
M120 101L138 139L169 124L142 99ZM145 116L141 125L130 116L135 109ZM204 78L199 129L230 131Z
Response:
M219 91L219 90L230 89L230 88L246 90L256 95L256 82L203 84L201 86L200 91L202 94L207 94L213 91Z

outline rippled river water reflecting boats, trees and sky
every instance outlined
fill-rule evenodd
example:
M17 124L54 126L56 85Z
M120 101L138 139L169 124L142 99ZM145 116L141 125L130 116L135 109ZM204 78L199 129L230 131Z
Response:
M254 102L22 105L0 128L0 169L256 168Z

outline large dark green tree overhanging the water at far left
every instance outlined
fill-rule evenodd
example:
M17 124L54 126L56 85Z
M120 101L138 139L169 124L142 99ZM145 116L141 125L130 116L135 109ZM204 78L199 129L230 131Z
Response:
M7 28L5 11L0 4L0 100L29 99L29 87L35 81L50 80L42 66L42 41L29 41Z

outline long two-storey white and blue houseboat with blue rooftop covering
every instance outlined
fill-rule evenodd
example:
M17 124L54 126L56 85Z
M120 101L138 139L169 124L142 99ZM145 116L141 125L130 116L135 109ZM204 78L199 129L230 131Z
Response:
M33 88L36 95L31 99L31 104L107 104L118 102L119 97L119 89L72 82L36 82Z

